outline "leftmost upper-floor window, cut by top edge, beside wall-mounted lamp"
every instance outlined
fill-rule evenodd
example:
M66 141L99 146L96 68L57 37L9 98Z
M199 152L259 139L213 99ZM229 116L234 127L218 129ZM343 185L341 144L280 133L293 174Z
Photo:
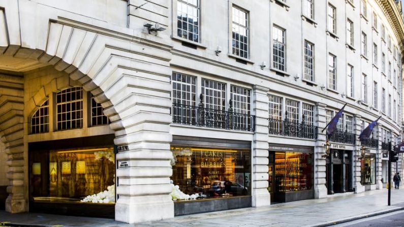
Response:
M177 36L199 42L199 0L177 0Z

